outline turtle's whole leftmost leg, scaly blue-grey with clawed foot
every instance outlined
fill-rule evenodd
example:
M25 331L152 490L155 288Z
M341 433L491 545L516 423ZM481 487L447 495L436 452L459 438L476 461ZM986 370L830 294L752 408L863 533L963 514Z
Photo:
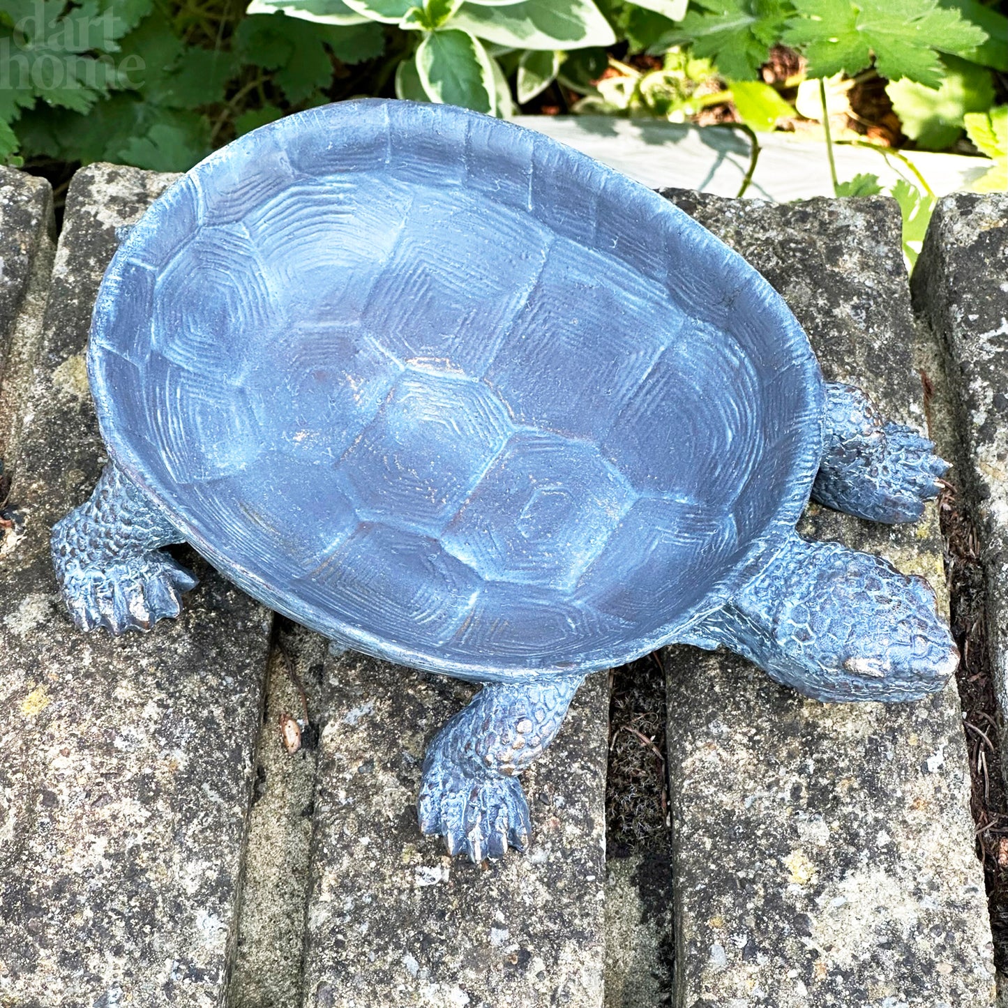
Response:
M104 626L119 634L177 616L181 593L197 580L158 546L182 541L109 463L91 499L52 528L52 565L77 626Z

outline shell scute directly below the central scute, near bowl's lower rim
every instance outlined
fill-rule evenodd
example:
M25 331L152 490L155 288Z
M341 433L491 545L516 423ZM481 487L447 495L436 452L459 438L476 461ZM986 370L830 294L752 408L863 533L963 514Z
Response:
M291 587L364 634L412 649L453 637L480 580L436 539L366 522Z

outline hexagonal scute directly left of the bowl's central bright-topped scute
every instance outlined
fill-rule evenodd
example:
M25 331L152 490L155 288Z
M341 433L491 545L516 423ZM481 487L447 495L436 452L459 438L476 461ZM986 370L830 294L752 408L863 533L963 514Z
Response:
M270 447L335 465L401 371L359 325L300 324L264 349L245 386Z

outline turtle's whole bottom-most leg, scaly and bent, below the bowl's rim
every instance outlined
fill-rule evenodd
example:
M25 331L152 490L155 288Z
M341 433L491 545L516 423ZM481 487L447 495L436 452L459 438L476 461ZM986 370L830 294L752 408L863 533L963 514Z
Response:
M531 828L515 774L553 740L583 678L484 686L427 747L420 829L477 863L503 857L509 844L524 851Z

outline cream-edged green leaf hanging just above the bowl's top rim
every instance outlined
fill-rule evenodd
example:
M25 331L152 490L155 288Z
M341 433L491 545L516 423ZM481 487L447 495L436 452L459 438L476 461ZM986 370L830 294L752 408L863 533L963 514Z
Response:
M423 90L445 105L461 105L493 115L497 109L490 56L468 31L432 31L416 50Z

